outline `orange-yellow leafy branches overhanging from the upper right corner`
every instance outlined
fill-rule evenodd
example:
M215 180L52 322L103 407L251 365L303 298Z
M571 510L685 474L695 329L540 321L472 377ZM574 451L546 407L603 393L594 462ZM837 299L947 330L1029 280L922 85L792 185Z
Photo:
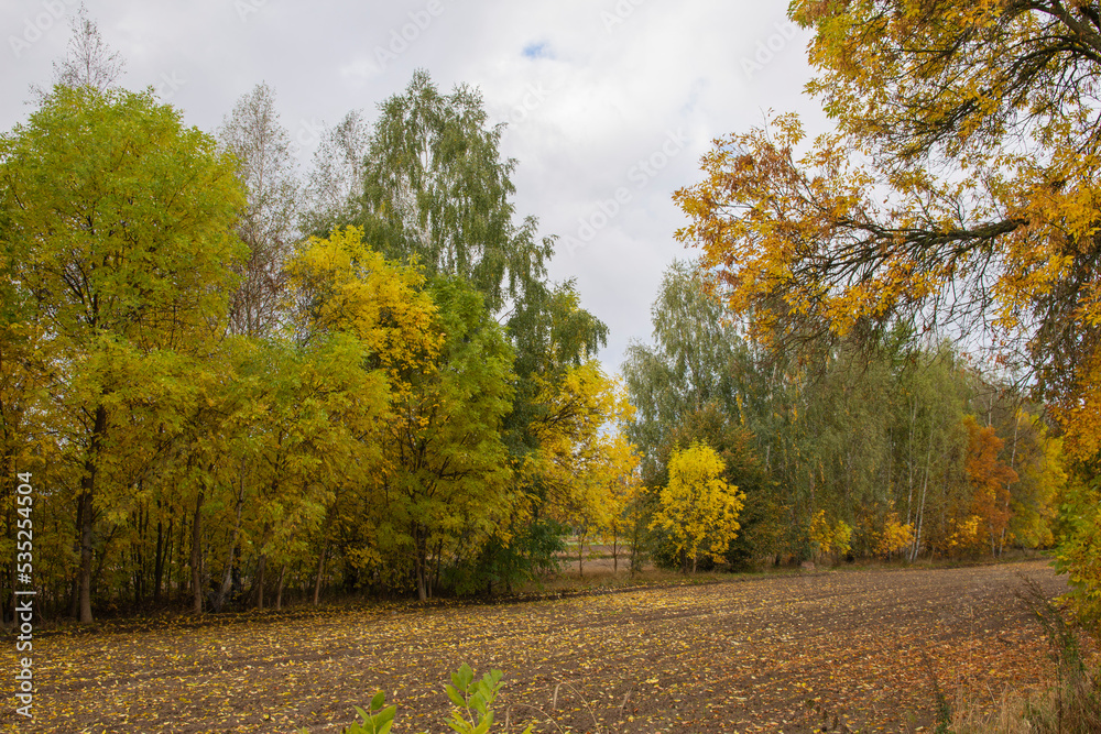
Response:
M799 0L791 14L816 33L809 90L837 131L802 156L791 116L723 139L676 195L691 220L678 237L774 339L898 317L984 332L1095 449L1097 8Z

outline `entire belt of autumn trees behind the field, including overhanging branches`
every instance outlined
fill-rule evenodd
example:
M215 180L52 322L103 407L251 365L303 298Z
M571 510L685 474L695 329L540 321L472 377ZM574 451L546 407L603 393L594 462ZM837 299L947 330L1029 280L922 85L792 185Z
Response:
M1054 550L1095 613L1097 15L884 4L922 3L793 3L837 132L716 141L619 370L477 89L418 72L299 176L273 88L187 127L86 22L0 138L3 618L32 518L39 613L83 623L492 595L587 538Z

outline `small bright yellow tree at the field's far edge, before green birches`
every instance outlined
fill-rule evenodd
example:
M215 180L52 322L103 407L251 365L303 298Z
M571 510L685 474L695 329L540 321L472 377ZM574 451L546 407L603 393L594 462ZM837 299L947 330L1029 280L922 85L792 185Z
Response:
M674 451L669 458L669 484L658 494L651 528L668 534L685 573L689 561L696 572L701 551L721 559L738 536L738 514L745 495L722 479L724 469L715 449L701 443Z

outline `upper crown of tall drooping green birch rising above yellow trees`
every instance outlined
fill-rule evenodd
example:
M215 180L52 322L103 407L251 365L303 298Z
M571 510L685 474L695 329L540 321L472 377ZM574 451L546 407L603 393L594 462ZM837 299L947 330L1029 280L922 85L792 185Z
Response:
M442 95L417 72L380 109L351 223L386 258L468 281L494 316L541 291L552 240L536 239L532 217L513 222L516 162L501 160L501 129L486 127L478 91Z

